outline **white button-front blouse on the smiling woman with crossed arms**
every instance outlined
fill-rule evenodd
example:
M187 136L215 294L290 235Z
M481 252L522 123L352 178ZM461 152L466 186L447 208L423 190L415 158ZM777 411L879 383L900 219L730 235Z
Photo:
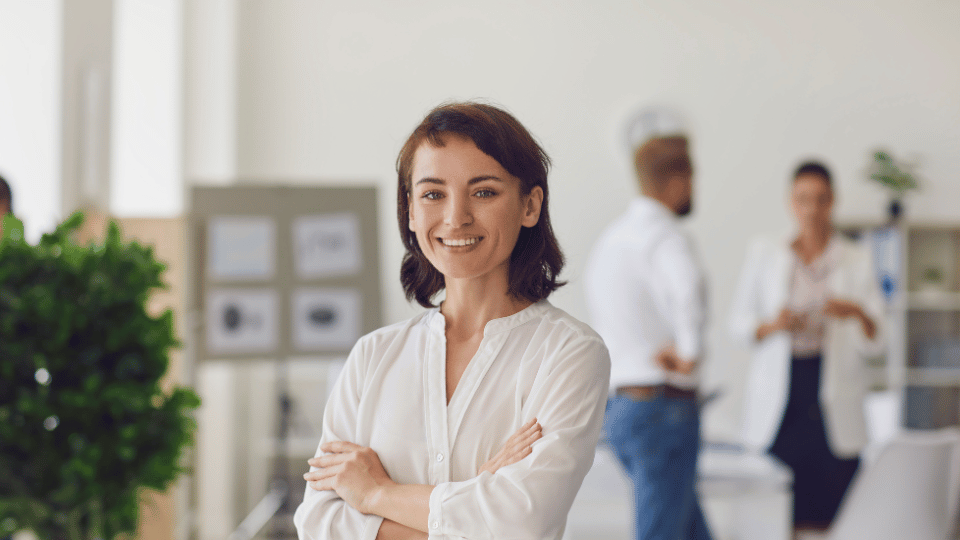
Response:
M431 539L559 540L600 435L610 379L603 341L546 300L492 320L447 404L445 322L431 309L361 338L327 402L320 443L368 446L394 481L436 486ZM531 455L477 476L534 417L543 438ZM381 522L309 486L294 516L301 540L372 540Z

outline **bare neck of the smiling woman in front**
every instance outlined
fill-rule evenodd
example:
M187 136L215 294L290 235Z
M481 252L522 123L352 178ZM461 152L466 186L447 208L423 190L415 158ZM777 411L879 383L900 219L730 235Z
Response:
M440 312L446 319L448 337L482 333L488 322L513 315L533 303L507 292L506 276L496 280L448 279L445 285L446 298Z

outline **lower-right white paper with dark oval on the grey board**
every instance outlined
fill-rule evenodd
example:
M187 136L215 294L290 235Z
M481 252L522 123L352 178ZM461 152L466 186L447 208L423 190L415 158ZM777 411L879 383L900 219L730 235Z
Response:
M293 345L303 352L346 350L360 338L356 289L301 288L293 293Z

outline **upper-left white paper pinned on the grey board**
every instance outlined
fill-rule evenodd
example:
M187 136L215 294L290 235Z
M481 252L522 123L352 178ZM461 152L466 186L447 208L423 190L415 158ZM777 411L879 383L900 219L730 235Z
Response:
M207 275L212 279L273 278L277 226L264 216L216 216L207 225Z

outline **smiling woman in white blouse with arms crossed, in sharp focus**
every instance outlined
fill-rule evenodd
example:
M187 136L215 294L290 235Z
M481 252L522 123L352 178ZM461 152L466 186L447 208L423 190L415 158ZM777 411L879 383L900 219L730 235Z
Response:
M401 282L428 309L350 353L304 475L301 540L563 536L610 364L600 337L547 301L563 285L548 166L484 104L442 105L407 139Z

